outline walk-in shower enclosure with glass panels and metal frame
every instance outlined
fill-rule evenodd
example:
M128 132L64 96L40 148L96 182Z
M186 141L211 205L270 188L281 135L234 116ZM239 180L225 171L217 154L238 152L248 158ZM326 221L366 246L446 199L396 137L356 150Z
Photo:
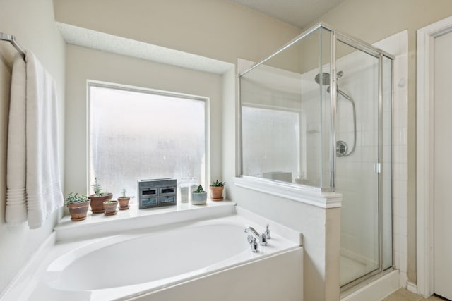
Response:
M343 290L393 266L392 66L317 25L239 74L242 176L343 195Z

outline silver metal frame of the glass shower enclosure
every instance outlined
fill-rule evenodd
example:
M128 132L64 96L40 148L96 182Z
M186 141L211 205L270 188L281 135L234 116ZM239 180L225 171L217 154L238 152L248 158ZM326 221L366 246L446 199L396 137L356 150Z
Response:
M334 30L333 27L331 27L330 25L326 25L326 23L319 23L317 25L314 25L313 27L309 28L308 30L304 31L301 35L299 35L298 37L296 37L295 39L292 39L292 41L288 42L287 44L285 44L283 47L281 47L278 51L276 51L274 54L268 56L266 59L264 59L263 61L260 61L258 63L255 63L253 66L246 68L246 70L243 70L241 73L239 73L238 78L241 78L242 75L245 75L246 73L248 73L249 71L253 70L254 68L256 68L257 66L260 66L261 64L265 63L266 61L268 61L269 59L272 59L274 56L280 54L282 51L284 51L285 49L289 48L292 46L292 44L295 44L297 42L299 42L301 39L304 39L304 37L307 37L308 35L310 35L312 32L314 32L315 30L318 29L324 29L324 30L328 30L328 32L331 33L331 37L330 37L330 42L331 42L331 58L330 58L330 74L336 74L337 73L337 69L336 69L336 42L342 42L343 44L346 44L354 49L357 49L359 51L362 51L366 54L369 54L371 56L374 56L376 59L379 60L379 83L378 83L378 106L379 106L379 111L378 111L378 141L379 141L379 146L378 146L378 162L375 163L375 169L376 172L379 173L378 176L378 207L379 207L379 216L378 216L378 221L379 221L379 268L371 271L367 274L364 274L363 276L355 279L354 281L351 281L350 283L347 283L345 285L343 285L340 288L341 293L344 290L347 290L348 288L351 288L352 286L356 285L357 283L361 283L362 281L365 281L369 278L371 278L372 276L376 276L377 274L381 274L383 271L387 271L392 269L393 267L393 260L392 260L392 264L391 266L389 266L386 269L383 269L383 192L382 192L382 188L383 186L381 185L383 183L383 173L381 173L381 158L382 158L382 154L383 154L383 59L386 57L387 59L391 59L391 78L393 78L393 63L394 63L394 59L395 57L392 54L389 54L386 51L383 51L381 49L378 49L374 46L372 46L371 44L368 44L367 42L362 41L361 39L357 39L355 37L350 37L348 35L345 35L343 33L338 32L337 30ZM302 185L302 184L297 184L297 187L302 188L302 190L307 190L307 191L321 191L321 192L334 192L335 191L335 176L336 176L336 154L335 154L335 119L336 119L336 109L337 109L337 78L335 76L331 76L330 77L330 87L331 87L331 93L330 93L330 101L331 101L331 137L330 137L330 149L329 149L329 164L330 164L330 174L329 174L329 187L327 188L323 188L323 185L321 188L317 188L317 187L311 187L311 186L307 186L307 185ZM238 91L240 91L240 80L238 80ZM238 152L238 156L239 156L239 160L237 162L238 166L238 175L243 177L243 154L242 154L242 116L240 113L240 108L242 106L242 103L240 101L240 97L238 97L238 112L237 112L237 116L238 116L238 124L237 124L237 145L239 147L239 152ZM393 114L393 81L391 80L391 129L392 129L392 114ZM392 135L392 133L391 133ZM391 211L393 210L393 164L392 164L392 159L393 159L393 147L392 147L392 137L391 137ZM262 182L263 185L264 183L269 183L267 180L265 179L260 179L260 178L256 178L256 181ZM283 187L286 188L290 188L291 186L293 186L292 183L284 183ZM391 219L391 223L393 223L393 219ZM392 238L392 242L394 240L393 238L393 224L391 224L391 238ZM393 244L394 245L394 244ZM392 257L394 258L394 248L392 248Z

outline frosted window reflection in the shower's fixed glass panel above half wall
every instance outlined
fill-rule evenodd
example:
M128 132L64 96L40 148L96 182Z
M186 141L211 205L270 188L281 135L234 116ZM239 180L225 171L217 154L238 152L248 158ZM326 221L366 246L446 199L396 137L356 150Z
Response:
M292 182L299 175L299 113L242 106L243 174Z

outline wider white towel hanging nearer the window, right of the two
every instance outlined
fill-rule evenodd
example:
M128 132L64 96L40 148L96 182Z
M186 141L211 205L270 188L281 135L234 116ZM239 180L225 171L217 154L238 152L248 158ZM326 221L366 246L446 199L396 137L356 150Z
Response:
M27 219L39 228L59 207L63 194L59 176L57 89L52 76L34 54L25 56Z

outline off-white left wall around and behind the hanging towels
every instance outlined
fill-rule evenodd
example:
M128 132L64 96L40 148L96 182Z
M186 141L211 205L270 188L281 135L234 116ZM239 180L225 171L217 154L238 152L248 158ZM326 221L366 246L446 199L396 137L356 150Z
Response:
M64 41L54 25L52 0L2 0L0 31L16 35L20 46L33 51L57 82L60 134L64 132ZM8 102L13 55L17 53L8 42L0 42L0 295L37 247L52 232L59 217L54 214L42 228L30 230L27 223L7 227L6 141ZM62 157L61 139L61 160ZM61 172L61 175L63 173Z

